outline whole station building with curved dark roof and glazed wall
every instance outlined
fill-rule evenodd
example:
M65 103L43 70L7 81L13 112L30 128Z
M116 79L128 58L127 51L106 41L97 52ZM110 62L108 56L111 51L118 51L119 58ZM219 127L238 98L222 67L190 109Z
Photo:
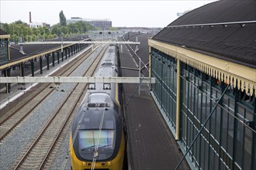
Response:
M192 169L256 168L255 6L213 2L148 40L151 93Z

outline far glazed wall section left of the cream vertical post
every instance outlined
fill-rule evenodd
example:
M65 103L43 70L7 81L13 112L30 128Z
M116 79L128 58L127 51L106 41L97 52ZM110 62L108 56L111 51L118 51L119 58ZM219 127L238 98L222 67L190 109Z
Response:
M157 96L157 102L164 110L171 127L176 126L176 84L177 78L175 69L177 63L174 58L168 57L160 51L152 50L151 73L156 78L152 84L152 90Z

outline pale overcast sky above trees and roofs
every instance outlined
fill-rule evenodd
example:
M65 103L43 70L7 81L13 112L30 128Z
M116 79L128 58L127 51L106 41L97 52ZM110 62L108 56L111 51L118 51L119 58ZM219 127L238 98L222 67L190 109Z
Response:
M70 0L0 0L1 22L59 22L63 10L66 19L77 16L83 19L110 19L112 26L164 27L177 19L177 12L199 8L216 0L165 0L165 1L70 1Z

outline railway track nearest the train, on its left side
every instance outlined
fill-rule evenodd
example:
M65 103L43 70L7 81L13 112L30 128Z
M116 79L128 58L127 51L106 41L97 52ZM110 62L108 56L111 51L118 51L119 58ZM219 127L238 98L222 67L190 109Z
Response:
M102 52L95 58L94 63L88 70L85 70L84 76L92 76L105 50L106 47L102 49ZM49 160L49 158L54 158L54 156L50 157L50 154L53 153L57 143L61 142L60 137L65 132L64 128L67 128L71 124L71 117L74 116L74 110L77 108L78 101L83 97L86 86L86 83L77 83L73 87L71 92L57 108L54 115L44 126L36 140L33 141L33 144L29 146L27 151L24 151L24 155L22 155L22 158L14 169L50 168L49 166L52 160Z

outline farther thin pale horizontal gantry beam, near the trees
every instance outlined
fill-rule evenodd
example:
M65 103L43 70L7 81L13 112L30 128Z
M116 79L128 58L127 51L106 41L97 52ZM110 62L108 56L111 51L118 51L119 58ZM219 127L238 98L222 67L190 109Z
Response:
M42 41L42 42L19 42L19 45L24 44L140 44L140 42L130 41Z

